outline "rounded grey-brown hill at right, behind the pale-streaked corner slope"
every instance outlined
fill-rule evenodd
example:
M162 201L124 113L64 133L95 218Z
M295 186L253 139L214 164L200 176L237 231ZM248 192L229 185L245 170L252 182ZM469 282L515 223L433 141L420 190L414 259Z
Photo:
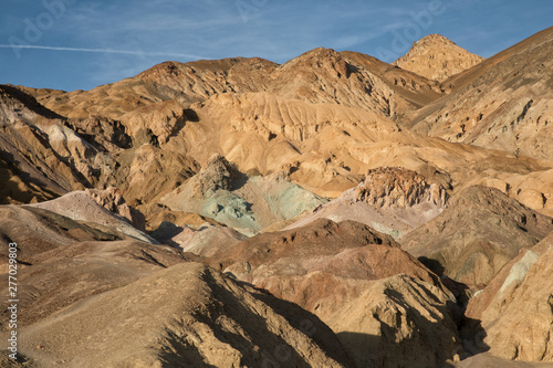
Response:
M514 259L553 231L553 219L497 189L470 187L448 209L400 239L401 246L425 257L435 272L468 285L483 286Z

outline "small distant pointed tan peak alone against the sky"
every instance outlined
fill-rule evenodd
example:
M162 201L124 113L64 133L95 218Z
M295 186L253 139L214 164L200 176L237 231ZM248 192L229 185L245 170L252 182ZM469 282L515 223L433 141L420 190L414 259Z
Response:
M409 52L393 65L408 70L429 80L444 82L480 62L483 57L459 48L440 34L429 34L413 43Z

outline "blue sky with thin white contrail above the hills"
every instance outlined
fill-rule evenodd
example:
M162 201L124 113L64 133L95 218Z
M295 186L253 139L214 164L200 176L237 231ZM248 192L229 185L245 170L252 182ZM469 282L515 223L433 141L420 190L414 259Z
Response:
M0 9L0 83L65 91L167 60L283 63L324 46L392 62L430 33L488 57L553 25L550 0L2 0Z

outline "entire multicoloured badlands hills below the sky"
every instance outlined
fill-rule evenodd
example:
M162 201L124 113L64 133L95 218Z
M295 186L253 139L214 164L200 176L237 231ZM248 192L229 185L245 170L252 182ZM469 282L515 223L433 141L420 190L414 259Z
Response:
M0 365L553 365L552 60L553 28L0 85Z

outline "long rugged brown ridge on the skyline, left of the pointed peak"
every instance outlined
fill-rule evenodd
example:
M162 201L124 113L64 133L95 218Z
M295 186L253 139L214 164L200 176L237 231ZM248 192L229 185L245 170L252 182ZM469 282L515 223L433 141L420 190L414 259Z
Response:
M396 105L401 109L407 104L397 104L393 91L378 76L331 49L312 50L280 66L260 57L165 62L135 77L91 91L20 88L65 117L98 115L121 119L125 125L132 122L124 115L144 106L168 99L186 106L223 93L267 91L285 98L340 104L387 117L396 114Z

